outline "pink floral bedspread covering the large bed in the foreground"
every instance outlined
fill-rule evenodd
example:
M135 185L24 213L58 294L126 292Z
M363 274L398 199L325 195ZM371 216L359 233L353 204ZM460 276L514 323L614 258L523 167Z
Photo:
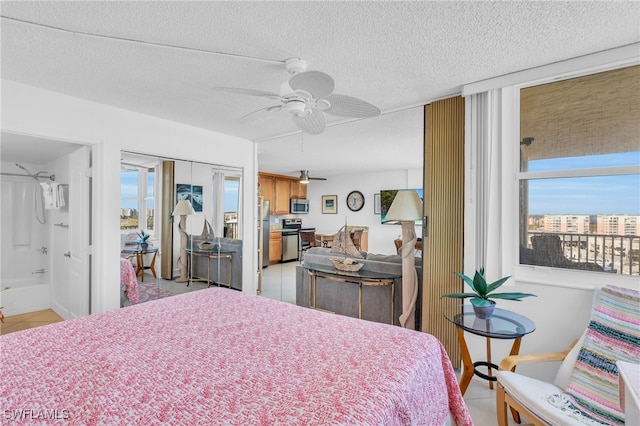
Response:
M472 424L434 337L223 288L11 333L0 351L5 423Z

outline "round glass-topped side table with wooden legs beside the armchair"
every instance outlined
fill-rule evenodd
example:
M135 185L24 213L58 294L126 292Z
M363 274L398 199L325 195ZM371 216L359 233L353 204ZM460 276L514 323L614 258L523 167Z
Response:
M458 341L462 352L462 377L460 379L460 391L464 395L473 375L482 377L489 381L489 387L493 389L493 382L497 379L491 375L491 369L498 369L498 365L491 362L491 339L514 339L509 355L517 355L520 351L522 336L529 334L536 329L536 325L529 318L516 314L506 309L496 308L493 316L489 319L477 318L473 312L473 306L456 306L445 312L445 318L455 324L458 331ZM487 360L471 360L469 348L464 338L467 331L478 336L487 338ZM478 367L487 367L488 374L478 371Z

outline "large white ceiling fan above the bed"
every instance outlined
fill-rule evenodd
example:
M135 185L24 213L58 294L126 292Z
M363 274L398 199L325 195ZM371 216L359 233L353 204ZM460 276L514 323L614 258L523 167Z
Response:
M292 76L282 83L279 94L233 87L214 87L213 89L280 101L277 105L253 111L240 118L238 122L263 111L287 111L300 130L312 135L318 135L324 131L327 124L325 113L350 118L369 118L380 115L380 109L375 105L351 96L334 94L333 78L320 71L306 71L305 60L290 58L286 60L285 66Z

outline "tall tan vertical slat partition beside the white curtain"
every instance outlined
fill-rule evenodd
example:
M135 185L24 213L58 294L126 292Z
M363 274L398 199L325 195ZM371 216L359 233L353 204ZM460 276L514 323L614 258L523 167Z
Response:
M445 309L459 300L441 299L462 290L454 273L463 268L464 98L425 106L424 208L428 229L423 241L422 330L443 343L454 367L460 366L455 326Z

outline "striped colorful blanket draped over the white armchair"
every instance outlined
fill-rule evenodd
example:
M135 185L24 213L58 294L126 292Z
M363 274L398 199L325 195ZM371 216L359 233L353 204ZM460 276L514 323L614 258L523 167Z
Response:
M636 290L607 286L596 292L569 386L552 397L584 424L624 424L616 361L640 359L639 301Z

